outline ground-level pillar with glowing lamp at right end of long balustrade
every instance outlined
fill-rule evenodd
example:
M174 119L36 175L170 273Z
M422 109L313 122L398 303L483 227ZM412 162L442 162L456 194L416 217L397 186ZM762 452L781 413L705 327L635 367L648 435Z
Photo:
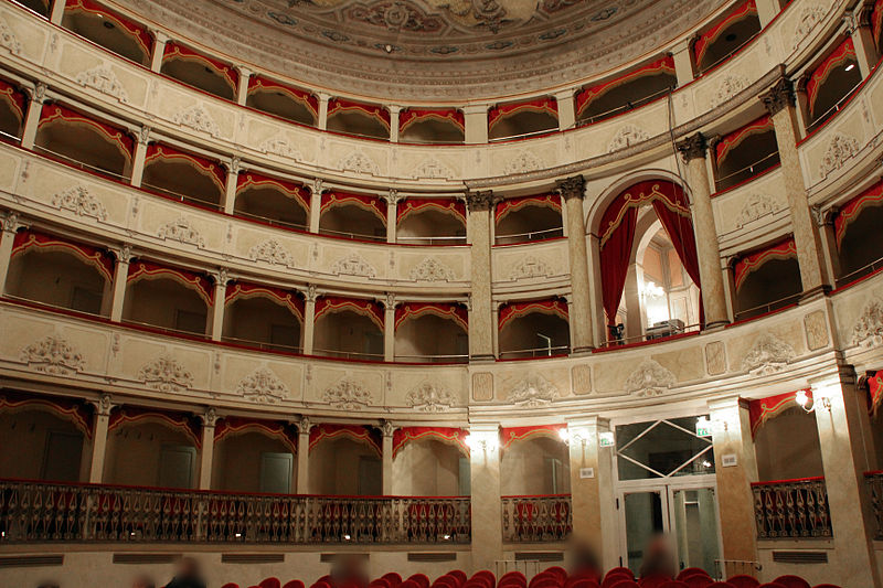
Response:
M500 501L500 425L469 426L469 477L472 502L472 568L493 569L502 559Z

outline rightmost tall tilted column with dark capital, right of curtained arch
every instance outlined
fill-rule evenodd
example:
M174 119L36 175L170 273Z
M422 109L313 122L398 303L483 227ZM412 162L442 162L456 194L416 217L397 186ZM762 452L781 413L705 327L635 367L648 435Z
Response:
M800 280L806 297L830 289L830 281L821 257L821 240L809 212L804 173L797 153L794 87L789 79L780 77L760 99L773 117L776 141L779 146L785 194L788 197L791 228L797 244L797 261L800 265Z

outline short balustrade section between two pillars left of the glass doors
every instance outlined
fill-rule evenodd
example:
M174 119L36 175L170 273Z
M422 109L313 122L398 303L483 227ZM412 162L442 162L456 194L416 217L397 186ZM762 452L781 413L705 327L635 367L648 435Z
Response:
M563 541L573 530L570 494L502 496L503 541Z

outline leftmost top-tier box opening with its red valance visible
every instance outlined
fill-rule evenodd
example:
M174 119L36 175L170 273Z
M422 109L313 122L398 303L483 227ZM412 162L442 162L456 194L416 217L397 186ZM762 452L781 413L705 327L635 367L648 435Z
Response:
M127 60L150 65L153 49L150 33L104 7L84 0L68 1L62 26Z

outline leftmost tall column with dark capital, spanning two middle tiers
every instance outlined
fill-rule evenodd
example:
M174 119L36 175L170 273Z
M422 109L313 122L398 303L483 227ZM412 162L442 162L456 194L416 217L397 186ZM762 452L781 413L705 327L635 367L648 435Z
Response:
M493 192L467 192L467 233L471 244L469 310L469 356L472 361L493 360L493 310L491 304L490 224Z

